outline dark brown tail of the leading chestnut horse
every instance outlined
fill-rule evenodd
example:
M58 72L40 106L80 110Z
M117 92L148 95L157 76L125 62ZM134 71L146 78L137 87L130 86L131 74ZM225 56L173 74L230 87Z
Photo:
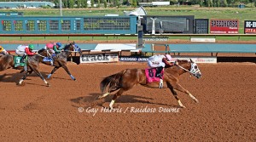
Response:
M107 88L108 93L118 90L121 87L121 80L122 76L125 74L125 71L126 70L120 71L119 73L105 77L100 84L102 94L105 93Z

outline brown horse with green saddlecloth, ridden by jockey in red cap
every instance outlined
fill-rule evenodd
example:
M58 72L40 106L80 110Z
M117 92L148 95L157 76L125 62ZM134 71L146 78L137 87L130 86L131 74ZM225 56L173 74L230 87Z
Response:
M25 75L20 79L20 81L17 83L18 85L24 85L24 80L28 75L30 75L33 71L40 77L44 83L49 87L49 83L46 82L40 71L38 71L39 68L39 62L43 60L43 58L47 56L47 52L41 52L40 54L35 54L33 56L28 56L26 60L26 67L27 71ZM24 66L17 66L15 67L15 55L13 54L5 54L0 57L0 71L7 70L9 68L21 70L21 72L25 71Z

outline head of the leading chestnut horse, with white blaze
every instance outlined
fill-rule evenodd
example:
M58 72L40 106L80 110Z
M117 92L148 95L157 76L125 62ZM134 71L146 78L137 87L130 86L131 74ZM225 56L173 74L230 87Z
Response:
M200 78L201 77L201 71L199 70L198 65L193 60L177 60L179 63L179 67L181 67L183 70L188 71L193 76ZM183 65L186 63L186 65Z

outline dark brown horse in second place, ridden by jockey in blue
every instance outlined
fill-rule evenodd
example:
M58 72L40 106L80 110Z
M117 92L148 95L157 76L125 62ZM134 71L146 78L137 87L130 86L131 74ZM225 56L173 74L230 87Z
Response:
M53 57L53 60L54 60L53 65L55 66L55 68L50 72L47 78L50 78L55 73L55 71L57 71L60 67L62 67L67 72L67 74L75 81L76 78L73 77L73 75L70 73L70 71L67 68L67 57L70 56L72 52L76 52L76 51L78 51L79 54L81 54L81 48L76 46L76 44L73 42L65 45L63 49L64 51L62 51L61 54L58 54L55 57ZM42 63L44 63L45 65L50 65L48 61L47 62L43 61Z

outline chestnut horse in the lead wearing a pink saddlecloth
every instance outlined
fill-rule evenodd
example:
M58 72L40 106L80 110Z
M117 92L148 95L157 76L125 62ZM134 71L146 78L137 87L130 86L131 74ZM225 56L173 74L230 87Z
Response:
M166 82L166 84L164 84L163 88L169 88L171 90L172 94L177 99L178 105L180 105L180 107L185 106L181 103L180 99L178 99L176 90L185 94L189 94L189 96L198 103L198 100L195 99L195 97L190 94L188 90L183 88L178 83L178 78L185 72L189 72L195 77L200 78L201 71L199 70L198 65L196 65L195 62L193 62L192 60L177 60L177 62L178 65L172 66L170 68L165 68L163 82ZM126 69L124 71L120 71L119 73L105 77L102 80L100 84L102 95L100 95L98 99L102 99L111 92L119 90L116 94L113 95L113 99L109 105L110 109L113 109L113 103L115 99L117 99L125 91L131 89L137 84L143 85L148 88L159 88L159 82L147 82L145 70Z

